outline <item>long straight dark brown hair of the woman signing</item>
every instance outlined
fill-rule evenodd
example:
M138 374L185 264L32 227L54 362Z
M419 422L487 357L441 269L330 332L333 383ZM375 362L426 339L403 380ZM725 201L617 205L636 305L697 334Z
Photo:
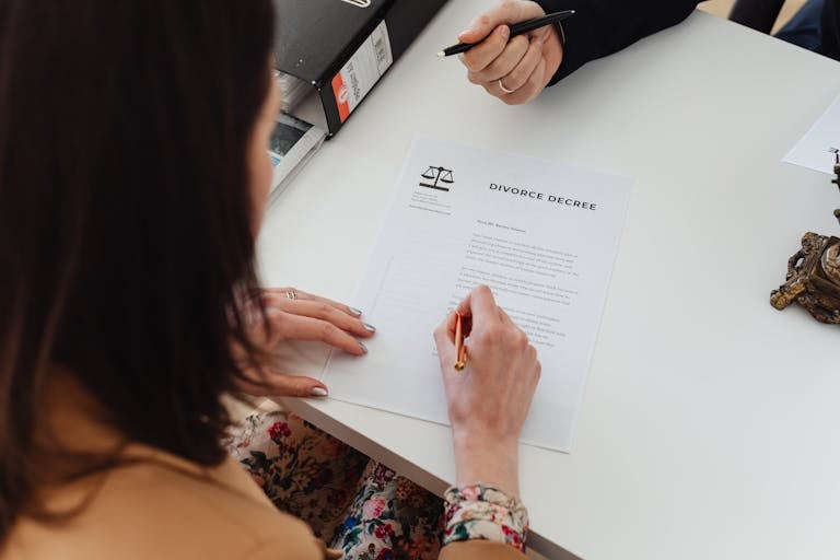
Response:
M0 0L0 544L50 364L126 438L223 458L272 32L270 0Z

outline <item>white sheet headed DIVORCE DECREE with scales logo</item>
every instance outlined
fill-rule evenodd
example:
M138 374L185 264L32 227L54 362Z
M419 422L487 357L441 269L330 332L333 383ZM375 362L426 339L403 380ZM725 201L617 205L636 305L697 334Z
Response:
M625 178L416 140L354 300L377 332L364 358L332 353L330 396L446 423L432 331L486 283L542 364L523 441L568 452L629 195Z

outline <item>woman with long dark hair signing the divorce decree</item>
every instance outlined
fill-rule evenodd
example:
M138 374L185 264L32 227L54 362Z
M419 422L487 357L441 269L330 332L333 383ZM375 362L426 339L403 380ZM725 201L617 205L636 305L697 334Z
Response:
M330 555L222 444L223 395L325 392L273 372L278 345L361 359L373 335L256 279L273 18L270 0L0 0L0 559ZM458 311L468 370L454 319L435 331L458 479L441 558L517 558L539 362L487 288Z

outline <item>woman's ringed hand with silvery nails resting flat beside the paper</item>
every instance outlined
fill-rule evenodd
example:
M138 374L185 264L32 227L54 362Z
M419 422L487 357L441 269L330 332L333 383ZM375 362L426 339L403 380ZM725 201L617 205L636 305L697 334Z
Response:
M358 338L370 338L376 331L360 319L358 310L294 288L262 290L259 298L269 328L256 319L249 335L266 353L285 341L320 341L353 355L364 355L368 349ZM234 352L237 358L244 358L242 348L234 348ZM320 381L282 372L272 364L246 368L243 375L244 378L236 378L236 385L254 396L327 395L327 387Z

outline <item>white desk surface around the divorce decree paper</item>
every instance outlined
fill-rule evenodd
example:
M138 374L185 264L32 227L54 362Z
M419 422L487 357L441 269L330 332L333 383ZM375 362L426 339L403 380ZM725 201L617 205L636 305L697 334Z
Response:
M434 56L485 7L450 2L283 194L265 281L351 303L415 135L632 177L572 453L522 450L532 546L840 558L840 330L768 303L802 234L839 231L829 177L780 160L840 92L840 65L698 12L508 107ZM434 491L454 478L445 427L287 406Z

